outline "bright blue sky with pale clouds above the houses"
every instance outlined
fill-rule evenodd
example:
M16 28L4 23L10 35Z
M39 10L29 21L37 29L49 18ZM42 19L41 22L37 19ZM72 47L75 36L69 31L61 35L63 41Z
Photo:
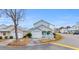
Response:
M0 24L12 24L9 18L0 19ZM30 28L33 23L41 19L57 27L72 26L79 21L79 9L27 9L24 10L24 18L20 21L20 26Z

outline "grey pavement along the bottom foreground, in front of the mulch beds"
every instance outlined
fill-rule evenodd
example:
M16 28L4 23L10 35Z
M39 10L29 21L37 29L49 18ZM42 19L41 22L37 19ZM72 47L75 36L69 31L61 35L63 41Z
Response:
M58 46L55 44L45 44L45 45L28 45L24 47L8 47L6 46L8 43L12 42L13 40L8 39L3 42L0 42L0 50L71 50L70 48Z

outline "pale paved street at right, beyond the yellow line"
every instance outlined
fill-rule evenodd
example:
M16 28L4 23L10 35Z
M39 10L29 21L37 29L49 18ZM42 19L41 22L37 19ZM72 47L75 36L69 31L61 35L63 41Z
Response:
M62 36L64 37L64 39L57 43L63 43L79 48L79 35L62 34Z

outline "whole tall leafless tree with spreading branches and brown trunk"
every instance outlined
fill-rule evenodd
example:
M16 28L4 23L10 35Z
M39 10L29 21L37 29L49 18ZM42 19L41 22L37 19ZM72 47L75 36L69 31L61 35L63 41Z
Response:
M18 22L19 20L22 18L23 16L23 10L22 9L3 9L2 10L4 12L5 15L7 15L8 17L10 17L14 23L14 28L15 28L15 37L16 37L16 41L18 40Z

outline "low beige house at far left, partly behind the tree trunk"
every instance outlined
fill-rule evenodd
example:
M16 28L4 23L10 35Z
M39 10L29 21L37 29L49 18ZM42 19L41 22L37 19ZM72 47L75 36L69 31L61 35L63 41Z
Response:
M14 30L14 26L10 25L10 26L3 26L0 25L0 37L2 37L3 39L7 38L15 38L15 30ZM26 33L26 30L18 27L18 38L22 38Z

